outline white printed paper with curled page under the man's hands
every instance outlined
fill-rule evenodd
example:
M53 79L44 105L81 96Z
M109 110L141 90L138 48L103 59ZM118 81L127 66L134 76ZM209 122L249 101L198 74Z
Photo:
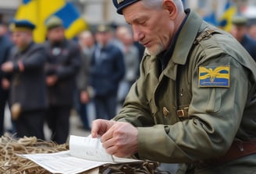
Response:
M51 154L19 155L52 173L76 174L95 167L118 162L140 162L132 158L108 155L99 138L70 136L69 151Z

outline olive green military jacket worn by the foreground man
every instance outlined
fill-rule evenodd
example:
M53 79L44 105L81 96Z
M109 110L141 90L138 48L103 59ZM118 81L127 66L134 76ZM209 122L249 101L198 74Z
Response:
M198 39L205 30L215 32ZM161 75L157 59L144 54L140 78L114 118L138 128L140 158L190 164L224 155L235 138L256 137L256 64L228 33L190 12ZM213 83L225 76L221 69L226 82ZM245 173L239 170L255 172L256 155L195 173Z

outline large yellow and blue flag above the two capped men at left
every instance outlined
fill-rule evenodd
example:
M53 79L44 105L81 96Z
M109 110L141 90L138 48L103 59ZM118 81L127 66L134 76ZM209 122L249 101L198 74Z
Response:
M27 19L34 23L34 41L41 43L46 37L44 23L53 15L62 19L67 39L72 39L87 28L87 23L81 18L80 13L65 0L23 0L16 12L16 19Z

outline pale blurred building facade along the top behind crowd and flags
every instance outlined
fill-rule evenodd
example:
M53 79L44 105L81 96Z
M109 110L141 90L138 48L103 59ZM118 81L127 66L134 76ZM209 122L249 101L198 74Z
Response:
M125 23L123 16L116 13L112 0L67 0L73 2L90 25L99 23ZM212 10L220 16L227 0L185 0L185 6L197 10L202 16ZM0 0L0 18L8 21L15 15L22 0ZM236 5L256 6L255 0L233 0Z

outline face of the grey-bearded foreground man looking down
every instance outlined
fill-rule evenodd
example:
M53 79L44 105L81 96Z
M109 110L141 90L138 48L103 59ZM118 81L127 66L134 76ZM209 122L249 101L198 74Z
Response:
M174 33L169 11L147 9L142 2L136 2L123 9L123 16L133 28L133 39L144 45L149 54L157 55L169 47Z

